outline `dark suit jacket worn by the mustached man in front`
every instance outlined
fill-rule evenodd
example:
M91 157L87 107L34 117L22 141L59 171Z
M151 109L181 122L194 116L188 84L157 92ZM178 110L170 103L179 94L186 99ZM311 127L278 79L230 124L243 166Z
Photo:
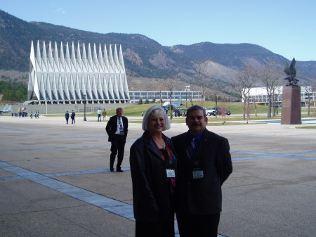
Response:
M190 214L215 214L222 209L221 186L232 172L228 140L205 129L195 158L202 159L204 178L192 179L192 161L186 152L187 133L171 139L178 154L176 211Z

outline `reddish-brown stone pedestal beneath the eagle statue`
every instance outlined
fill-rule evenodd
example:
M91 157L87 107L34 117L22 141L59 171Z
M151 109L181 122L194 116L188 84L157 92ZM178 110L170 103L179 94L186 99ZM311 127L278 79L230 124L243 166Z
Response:
M301 123L301 87L283 87L281 124Z

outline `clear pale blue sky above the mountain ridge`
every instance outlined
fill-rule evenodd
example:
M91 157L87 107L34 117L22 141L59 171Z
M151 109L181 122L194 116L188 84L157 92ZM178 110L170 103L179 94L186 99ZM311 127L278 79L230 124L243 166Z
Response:
M249 43L316 60L315 0L0 0L0 9L27 22L143 34L163 46Z

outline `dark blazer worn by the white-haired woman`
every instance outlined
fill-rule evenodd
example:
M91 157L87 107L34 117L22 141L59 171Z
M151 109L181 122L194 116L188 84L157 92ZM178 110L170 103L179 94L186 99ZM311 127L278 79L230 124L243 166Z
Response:
M176 154L171 139L166 137L166 141ZM166 182L164 160L147 132L131 146L130 165L136 221L173 221L173 201Z

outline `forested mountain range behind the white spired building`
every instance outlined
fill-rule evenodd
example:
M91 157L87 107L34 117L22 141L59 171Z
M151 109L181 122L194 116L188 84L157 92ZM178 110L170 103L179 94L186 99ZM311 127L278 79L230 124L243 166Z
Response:
M177 78L192 82L196 73L195 63L208 67L210 80L220 82L220 89L227 87L237 70L245 64L260 68L275 62L280 70L289 61L283 56L254 44L213 44L203 42L192 45L162 46L141 34L100 34L76 30L48 23L26 22L0 10L0 73L3 70L28 72L31 41L39 40L74 42L79 44L121 44L124 53L126 75L131 79ZM46 44L48 45L48 44ZM315 79L316 61L296 62L298 79ZM152 87L150 83L149 88ZM182 87L183 88L183 87Z

